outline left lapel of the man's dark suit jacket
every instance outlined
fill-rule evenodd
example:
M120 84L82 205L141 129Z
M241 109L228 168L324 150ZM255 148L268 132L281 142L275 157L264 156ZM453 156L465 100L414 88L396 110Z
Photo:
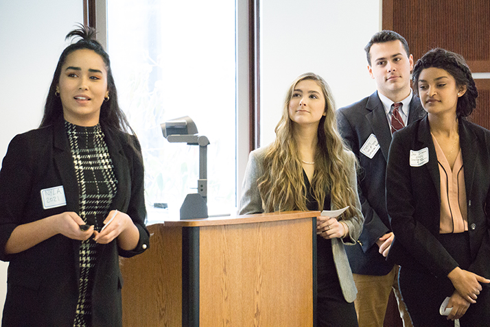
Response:
M388 120L386 119L386 112L384 112L383 104L380 97L377 96L377 91L369 97L366 110L366 119L369 121L373 133L377 138L377 142L380 143L381 152L384 156L384 160L388 160L388 151L391 143L391 132L388 126Z

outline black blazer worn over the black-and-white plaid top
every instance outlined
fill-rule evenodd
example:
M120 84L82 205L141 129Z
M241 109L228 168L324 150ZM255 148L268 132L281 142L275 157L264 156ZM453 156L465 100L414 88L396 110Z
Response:
M66 211L79 213L78 184L62 119L15 136L0 171L0 259L10 261L2 326L73 326L80 277L80 241L57 234L18 254L5 254L16 226ZM143 165L121 132L104 130L118 180L110 210L127 213L139 229L135 250L114 240L100 245L92 292L93 326L122 326L121 256L148 247ZM62 185L66 206L43 209L40 190Z

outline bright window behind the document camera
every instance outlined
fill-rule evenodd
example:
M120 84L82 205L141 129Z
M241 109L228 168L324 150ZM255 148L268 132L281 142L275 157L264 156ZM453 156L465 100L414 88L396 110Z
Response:
M185 195L197 193L198 146L168 143L160 128L189 116L210 141L209 215L233 213L235 1L108 0L107 36L119 104L143 150L148 207L165 203L178 217Z

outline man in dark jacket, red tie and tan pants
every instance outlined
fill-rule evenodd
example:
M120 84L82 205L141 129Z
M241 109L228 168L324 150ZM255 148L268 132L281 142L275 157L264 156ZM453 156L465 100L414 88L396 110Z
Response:
M358 288L355 311L360 327L383 326L393 288L404 326L412 326L398 291L398 267L385 260L393 241L386 213L385 171L393 132L423 117L423 108L410 88L413 57L403 36L378 32L364 50L377 90L337 112L340 134L360 162L364 229L358 244L346 247Z

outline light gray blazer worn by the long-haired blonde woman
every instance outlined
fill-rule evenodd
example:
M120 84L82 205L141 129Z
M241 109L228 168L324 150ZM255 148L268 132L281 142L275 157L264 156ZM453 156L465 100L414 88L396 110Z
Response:
M242 186L240 215L250 215L264 212L264 208L262 207L262 199L259 194L259 189L257 188L257 180L264 175L264 157L268 147L270 147L270 145L250 152ZM349 182L352 188L357 190L358 182L354 163L355 156L351 152L349 152L349 154L349 162L346 162L346 165L351 167ZM359 197L356 197L355 206L360 210L361 205ZM332 203L331 209L335 210L336 208L338 208L336 204ZM358 293L358 291L355 289L351 267L349 266L349 261L347 260L347 254L345 254L344 244L355 244L355 241L357 241L362 231L364 217L349 217L342 221L347 223L347 226L349 226L349 238L331 239L331 247L334 254L334 262L338 274L338 280L340 280L342 294L344 295L345 300L350 303L355 300L355 295Z

